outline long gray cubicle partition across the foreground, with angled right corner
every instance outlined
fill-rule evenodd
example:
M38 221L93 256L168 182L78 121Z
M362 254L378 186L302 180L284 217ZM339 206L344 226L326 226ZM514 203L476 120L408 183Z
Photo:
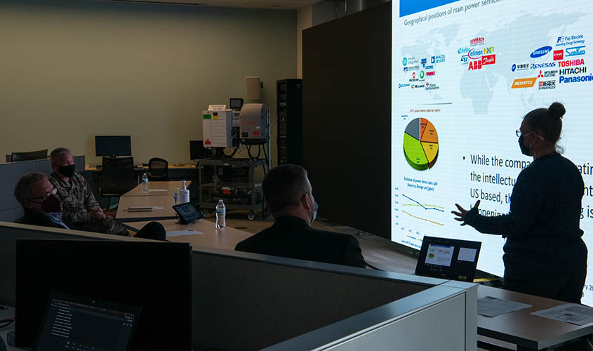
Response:
M8 305L20 238L145 240L0 223ZM474 284L206 248L193 255L194 350L476 350ZM155 298L166 303L175 291Z

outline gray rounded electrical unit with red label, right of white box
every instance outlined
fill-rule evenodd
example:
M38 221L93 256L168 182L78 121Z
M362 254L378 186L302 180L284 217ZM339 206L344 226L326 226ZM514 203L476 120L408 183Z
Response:
M241 108L241 144L262 145L269 139L269 110L265 104Z

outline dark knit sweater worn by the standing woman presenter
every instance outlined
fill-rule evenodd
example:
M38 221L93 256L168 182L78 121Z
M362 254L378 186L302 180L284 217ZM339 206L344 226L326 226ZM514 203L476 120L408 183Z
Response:
M465 223L479 232L507 237L505 263L540 272L568 272L586 264L587 248L579 228L583 193L578 168L558 153L549 154L519 173L508 214L486 217L472 208Z

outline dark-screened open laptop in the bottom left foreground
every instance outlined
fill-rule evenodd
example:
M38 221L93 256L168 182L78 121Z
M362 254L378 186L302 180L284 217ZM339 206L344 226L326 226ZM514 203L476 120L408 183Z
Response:
M128 351L141 308L52 292L33 351Z

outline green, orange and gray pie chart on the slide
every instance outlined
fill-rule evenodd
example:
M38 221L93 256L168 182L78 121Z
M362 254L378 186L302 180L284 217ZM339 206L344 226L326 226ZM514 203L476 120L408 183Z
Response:
M425 118L413 119L404 133L404 154L408 164L418 171L432 168L439 156L437 129Z

